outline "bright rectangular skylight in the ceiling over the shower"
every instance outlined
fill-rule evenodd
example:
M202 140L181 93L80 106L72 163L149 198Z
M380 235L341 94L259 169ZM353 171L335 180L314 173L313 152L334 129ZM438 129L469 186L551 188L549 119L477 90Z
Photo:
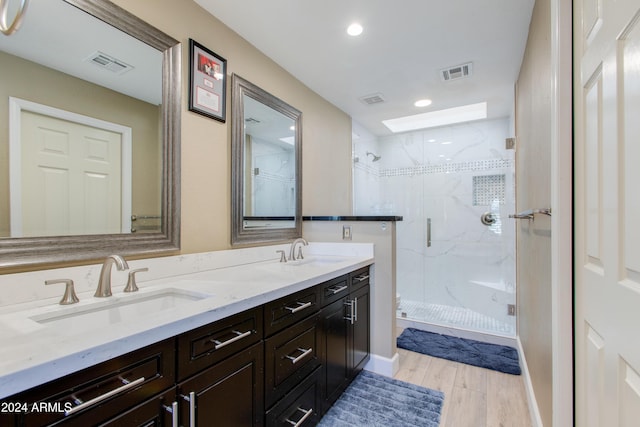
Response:
M462 107L447 108L446 110L431 111L397 119L383 120L391 132L407 132L410 130L426 129L445 126L453 123L470 122L487 118L487 103L463 105Z

